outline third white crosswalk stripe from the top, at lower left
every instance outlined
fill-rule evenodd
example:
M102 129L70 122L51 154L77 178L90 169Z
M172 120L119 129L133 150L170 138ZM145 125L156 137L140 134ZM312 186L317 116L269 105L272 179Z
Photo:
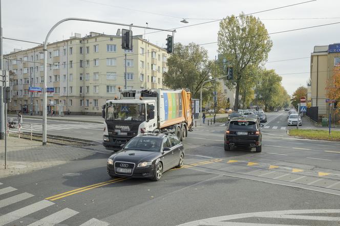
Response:
M39 210L42 210L46 207L52 206L53 204L54 204L54 202L52 202L52 201L41 200L41 201L35 202L34 204L31 204L29 206L26 206L26 207L23 207L21 209L10 212L8 214L2 215L2 216L0 216L0 225L10 223L14 220L18 220L22 217L29 215L29 214L32 214L32 213L37 212Z

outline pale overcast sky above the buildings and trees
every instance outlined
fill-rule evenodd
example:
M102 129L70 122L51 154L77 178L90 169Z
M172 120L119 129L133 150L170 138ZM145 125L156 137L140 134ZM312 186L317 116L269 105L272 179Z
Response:
M1 1L1 0L0 0ZM67 17L112 21L158 29L176 29L174 41L203 44L211 60L217 55L218 45L204 44L217 41L219 22L201 22L222 19L230 15L255 13L308 0L172 0L172 1L110 1L110 0L2 0L2 27L6 38L42 43L49 30ZM340 1L316 0L313 2L253 14L261 19L268 33L306 28L340 22ZM180 22L186 18L188 24ZM146 25L146 23L148 25ZM191 27L184 27L189 26ZM74 33L82 36L91 31L115 35L117 25L87 21L67 21L51 34L49 42L68 39ZM150 42L165 47L170 32L154 32L150 29L133 28L133 34L144 35ZM150 34L148 34L150 33ZM306 86L310 76L310 54L314 46L340 42L340 24L328 25L270 35L273 47L265 64L282 77L282 85L288 94L299 86ZM29 49L36 44L4 39L3 53L13 49ZM302 59L296 59L302 58ZM284 60L284 61L282 61ZM277 62L273 62L277 61Z

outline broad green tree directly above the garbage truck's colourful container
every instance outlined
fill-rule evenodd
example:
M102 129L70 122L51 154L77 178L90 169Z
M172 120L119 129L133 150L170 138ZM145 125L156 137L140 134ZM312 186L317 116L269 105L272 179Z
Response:
M213 62L208 60L207 51L195 43L189 43L188 46L176 43L174 54L167 58L167 67L168 71L163 74L163 84L173 89L189 88L193 98L200 97L201 85L208 80L214 69ZM202 94L211 98L213 91L210 86L208 88Z

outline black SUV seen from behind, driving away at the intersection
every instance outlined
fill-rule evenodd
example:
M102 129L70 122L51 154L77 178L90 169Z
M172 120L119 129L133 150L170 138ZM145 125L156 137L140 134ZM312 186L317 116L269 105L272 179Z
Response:
M229 122L224 136L224 150L230 147L254 147L256 152L262 151L262 133L257 119L248 117L233 118Z

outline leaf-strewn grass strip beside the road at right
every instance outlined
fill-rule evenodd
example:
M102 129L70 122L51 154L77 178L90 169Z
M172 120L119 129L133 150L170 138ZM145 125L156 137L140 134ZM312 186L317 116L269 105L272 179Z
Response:
M305 138L312 140L340 141L340 131L332 131L319 129L290 129L288 135L296 138Z

